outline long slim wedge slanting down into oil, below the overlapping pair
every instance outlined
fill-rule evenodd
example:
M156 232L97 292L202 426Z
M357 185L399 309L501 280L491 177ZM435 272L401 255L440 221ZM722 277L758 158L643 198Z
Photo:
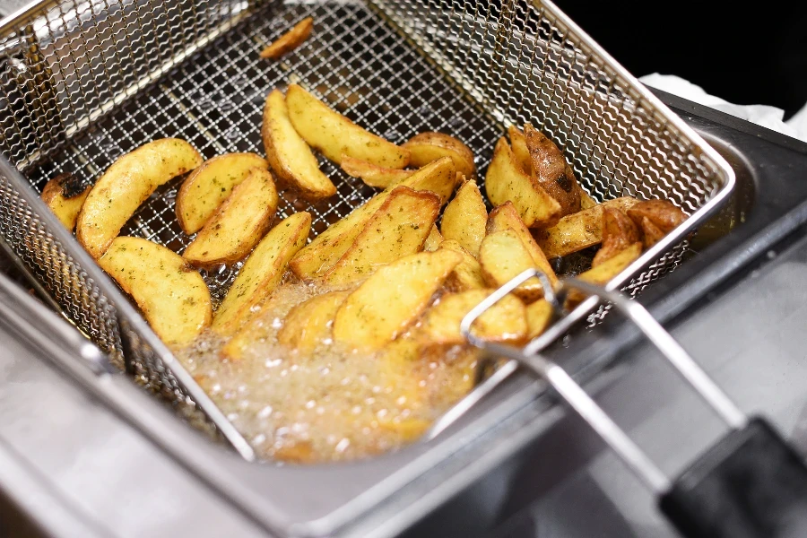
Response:
M269 230L241 267L213 318L213 331L235 333L281 282L291 256L306 244L309 213L294 213Z

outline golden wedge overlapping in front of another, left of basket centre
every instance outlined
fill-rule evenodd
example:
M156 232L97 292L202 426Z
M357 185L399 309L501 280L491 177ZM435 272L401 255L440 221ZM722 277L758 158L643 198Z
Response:
M264 237L277 211L272 174L252 169L187 246L182 257L197 267L233 265Z

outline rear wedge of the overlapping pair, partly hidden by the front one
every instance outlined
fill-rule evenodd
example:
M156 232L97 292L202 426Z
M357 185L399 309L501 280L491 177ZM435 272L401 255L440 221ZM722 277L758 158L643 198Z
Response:
M190 235L202 230L233 187L255 168L269 169L269 163L255 153L226 153L204 161L177 193L177 220L182 231Z

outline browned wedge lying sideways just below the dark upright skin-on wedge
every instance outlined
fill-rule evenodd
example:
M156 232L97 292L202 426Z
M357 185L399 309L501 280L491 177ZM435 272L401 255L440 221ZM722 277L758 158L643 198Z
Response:
M572 213L549 228L534 231L538 246L547 257L566 256L572 252L598 245L603 241L603 209L616 207L627 211L637 204L636 198L614 198L589 209Z

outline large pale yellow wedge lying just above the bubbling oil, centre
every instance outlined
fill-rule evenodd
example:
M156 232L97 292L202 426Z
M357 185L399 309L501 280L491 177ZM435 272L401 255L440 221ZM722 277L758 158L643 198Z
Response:
M439 249L379 268L339 308L334 341L361 351L381 349L414 323L460 261L456 252Z

